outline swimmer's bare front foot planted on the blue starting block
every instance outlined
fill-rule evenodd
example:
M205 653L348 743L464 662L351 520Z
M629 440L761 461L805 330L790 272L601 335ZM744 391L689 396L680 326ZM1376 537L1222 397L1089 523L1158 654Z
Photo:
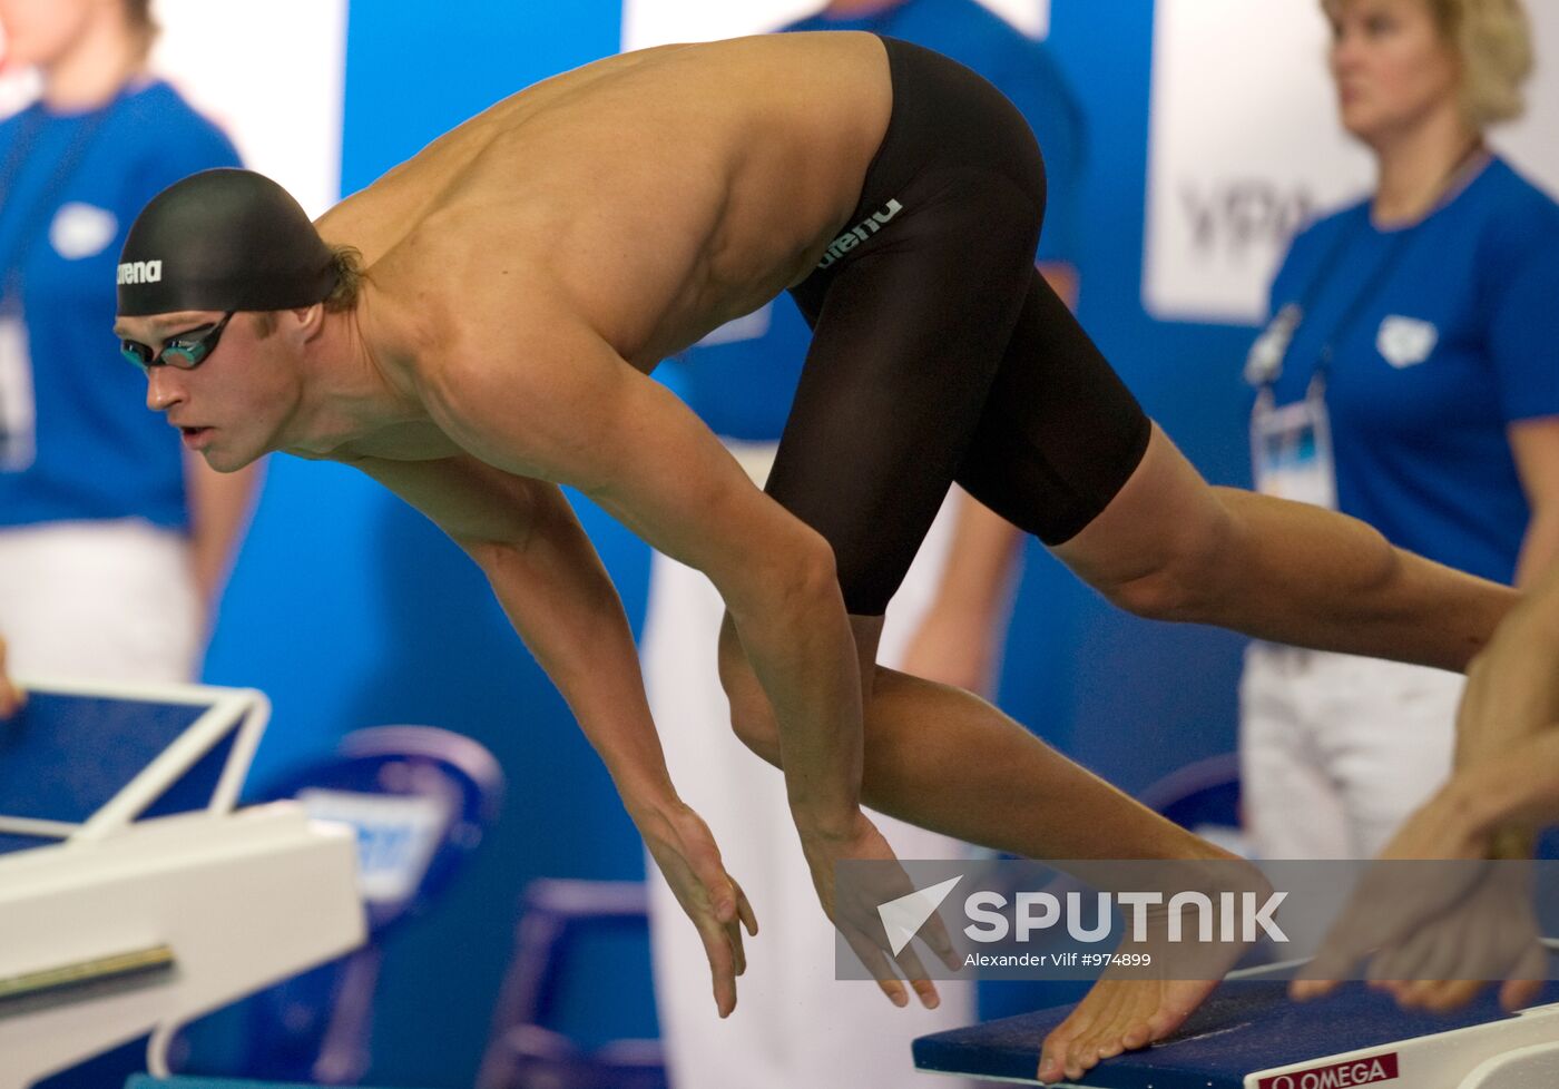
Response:
M1213 933L1221 935L1219 893L1252 893L1261 904L1272 888L1255 866L1235 855L1219 855L1213 862L1193 888L1214 905ZM1185 888L1180 883L1174 891ZM1045 1038L1040 1081L1063 1077L1077 1081L1104 1059L1161 1041L1207 1000L1249 944L1194 941L1197 911L1188 911L1185 921L1185 941L1171 943L1168 911L1147 911L1146 941L1122 941L1115 953L1118 960L1146 957L1151 967L1112 966L1105 971L1066 1020Z

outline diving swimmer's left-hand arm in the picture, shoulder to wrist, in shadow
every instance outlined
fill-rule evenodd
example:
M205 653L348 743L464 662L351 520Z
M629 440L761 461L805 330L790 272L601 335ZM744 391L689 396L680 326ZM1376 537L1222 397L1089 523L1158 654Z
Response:
M630 813L673 801L622 603L557 485L471 456L354 464L427 514L482 567Z

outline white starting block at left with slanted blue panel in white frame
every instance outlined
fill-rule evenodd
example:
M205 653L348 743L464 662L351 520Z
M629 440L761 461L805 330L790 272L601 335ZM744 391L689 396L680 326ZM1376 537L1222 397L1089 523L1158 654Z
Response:
M0 816L0 837L42 846L0 854L0 1089L148 1033L148 1069L167 1075L167 1045L192 1019L362 944L351 830L295 802L234 812L270 715L262 693L22 685L28 709L0 721L0 813L17 795L31 812ZM103 777L92 720L104 707L123 720L126 704L171 723L173 742L92 812L48 815L50 790L72 793L72 765ZM114 738L95 737L100 749ZM176 787L187 795L192 771L215 776L196 809L145 816Z

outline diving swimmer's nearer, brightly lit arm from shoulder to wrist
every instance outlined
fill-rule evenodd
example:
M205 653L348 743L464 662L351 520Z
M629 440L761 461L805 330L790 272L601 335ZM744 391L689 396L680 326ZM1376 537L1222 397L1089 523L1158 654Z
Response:
M426 394L483 461L574 485L720 590L781 732L803 830L859 818L861 676L833 552L753 488L672 396L563 313L527 321L524 363L454 355Z

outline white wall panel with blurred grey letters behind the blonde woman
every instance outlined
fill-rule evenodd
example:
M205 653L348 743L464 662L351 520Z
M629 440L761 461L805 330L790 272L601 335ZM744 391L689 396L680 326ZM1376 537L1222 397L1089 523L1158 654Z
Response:
M1559 192L1559 3L1528 0L1531 109L1495 143ZM1367 192L1342 132L1317 0L1158 0L1143 302L1166 319L1258 322L1299 221Z

